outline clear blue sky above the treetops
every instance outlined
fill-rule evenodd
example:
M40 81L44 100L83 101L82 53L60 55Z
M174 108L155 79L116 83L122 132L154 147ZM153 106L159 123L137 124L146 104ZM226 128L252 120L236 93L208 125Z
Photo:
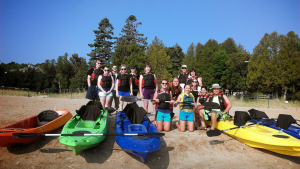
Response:
M299 35L299 0L0 0L0 61L42 63L68 53L91 51L98 23L105 17L119 37L135 15L138 31L186 53L193 42L218 43L231 37L252 53L265 33Z

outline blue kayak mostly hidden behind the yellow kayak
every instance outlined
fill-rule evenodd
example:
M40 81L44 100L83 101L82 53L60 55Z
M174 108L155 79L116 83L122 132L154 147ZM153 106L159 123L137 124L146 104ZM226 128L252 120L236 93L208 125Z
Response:
M257 120L257 121L249 120L249 122L252 122L252 123L260 123L261 122L261 125L276 129L276 130L278 130L278 132L282 131L282 132L287 133L297 139L300 139L300 127L290 125L290 127L287 130L284 130L279 127L276 127L277 121L272 120L272 119L262 119L262 120Z

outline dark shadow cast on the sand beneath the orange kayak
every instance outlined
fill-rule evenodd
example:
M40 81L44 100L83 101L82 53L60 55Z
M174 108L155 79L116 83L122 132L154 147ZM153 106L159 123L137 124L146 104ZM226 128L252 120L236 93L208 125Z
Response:
M51 133L60 134L61 131L62 131L62 128L63 127L60 127L59 129L57 129L57 130L55 130L54 132L51 132ZM37 151L37 150L43 148L46 144L50 143L54 139L57 139L57 137L42 137L41 139L39 139L39 140L37 140L33 143L16 144L12 147L7 147L7 150L10 153L16 154L16 155L31 153L31 152L34 152L34 151ZM45 151L47 151L47 150L48 149L45 149ZM64 149L58 149L58 150L60 151L60 150L64 150ZM53 151L53 152L55 153L55 151Z

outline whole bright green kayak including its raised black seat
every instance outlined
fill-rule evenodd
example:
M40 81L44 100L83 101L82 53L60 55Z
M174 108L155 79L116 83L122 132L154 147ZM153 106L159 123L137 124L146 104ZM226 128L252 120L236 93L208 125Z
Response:
M108 130L108 112L99 102L90 101L80 108L75 116L64 126L61 134L101 134ZM78 155L81 151L97 146L105 135L60 136L59 142Z

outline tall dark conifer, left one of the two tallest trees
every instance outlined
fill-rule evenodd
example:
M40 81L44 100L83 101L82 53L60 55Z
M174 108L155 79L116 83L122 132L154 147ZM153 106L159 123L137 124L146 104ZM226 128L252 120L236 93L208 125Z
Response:
M98 30L93 30L96 38L94 43L88 44L92 49L91 53L87 54L91 59L101 59L102 61L110 60L112 56L112 48L115 44L115 37L113 37L114 27L107 18L99 22Z

